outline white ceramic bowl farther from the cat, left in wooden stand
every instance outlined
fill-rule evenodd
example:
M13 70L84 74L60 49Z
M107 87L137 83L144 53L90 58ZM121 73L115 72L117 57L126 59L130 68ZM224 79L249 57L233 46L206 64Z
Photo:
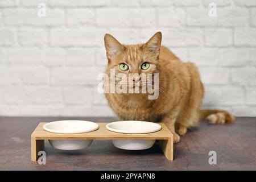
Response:
M64 120L44 124L43 129L52 133L77 134L98 129L98 124L90 121ZM52 147L60 150L80 150L89 147L93 140L49 140Z

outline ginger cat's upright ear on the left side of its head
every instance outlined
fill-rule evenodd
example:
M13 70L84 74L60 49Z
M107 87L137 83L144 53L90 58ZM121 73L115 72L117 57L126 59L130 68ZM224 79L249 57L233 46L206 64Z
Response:
M114 57L124 49L123 45L110 34L105 34L104 43L106 48L106 55L109 61L114 59Z

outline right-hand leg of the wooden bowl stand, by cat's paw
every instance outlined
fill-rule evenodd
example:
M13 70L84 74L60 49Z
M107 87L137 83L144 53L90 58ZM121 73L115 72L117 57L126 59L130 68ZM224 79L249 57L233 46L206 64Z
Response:
M174 139L159 140L159 146L168 160L174 160Z

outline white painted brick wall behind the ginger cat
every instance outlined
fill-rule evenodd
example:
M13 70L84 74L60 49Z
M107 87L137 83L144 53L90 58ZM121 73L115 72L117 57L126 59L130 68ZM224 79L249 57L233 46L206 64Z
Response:
M198 65L203 107L256 116L255 0L2 0L0 115L114 115L97 93L104 34L135 44L156 31Z

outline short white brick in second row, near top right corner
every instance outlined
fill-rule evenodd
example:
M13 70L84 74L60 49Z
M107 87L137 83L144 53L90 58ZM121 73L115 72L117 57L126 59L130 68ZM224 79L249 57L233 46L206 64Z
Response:
M245 8L217 9L218 26L244 27L249 19L249 10Z

